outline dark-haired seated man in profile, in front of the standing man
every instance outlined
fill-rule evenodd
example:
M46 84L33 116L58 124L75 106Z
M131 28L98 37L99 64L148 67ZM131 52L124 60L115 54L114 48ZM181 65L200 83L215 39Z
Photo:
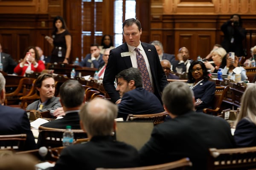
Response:
M153 114L163 112L163 105L157 96L146 91L137 68L128 68L116 75L121 102L118 104L118 117L126 120L128 114Z

